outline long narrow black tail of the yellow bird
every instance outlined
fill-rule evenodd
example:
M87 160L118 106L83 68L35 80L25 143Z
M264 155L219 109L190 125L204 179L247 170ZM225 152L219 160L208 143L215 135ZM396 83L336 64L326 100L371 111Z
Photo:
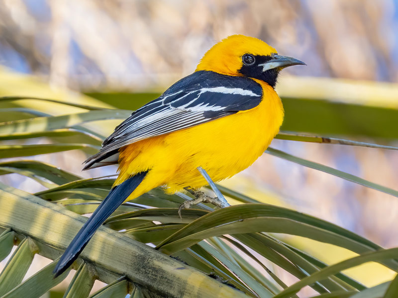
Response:
M94 211L93 215L82 226L80 231L73 238L71 244L65 250L61 259L58 261L53 274L54 277L62 274L68 267L78 258L83 248L89 242L96 230L111 215L117 207L136 189L142 182L147 171L136 174L128 178L123 183L113 187L106 198L101 202L100 206Z

